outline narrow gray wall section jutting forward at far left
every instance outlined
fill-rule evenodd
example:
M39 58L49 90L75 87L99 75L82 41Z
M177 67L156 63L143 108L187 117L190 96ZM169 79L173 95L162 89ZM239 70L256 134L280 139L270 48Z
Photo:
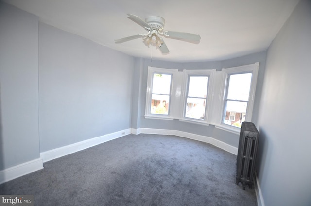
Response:
M40 157L38 21L0 2L0 170Z

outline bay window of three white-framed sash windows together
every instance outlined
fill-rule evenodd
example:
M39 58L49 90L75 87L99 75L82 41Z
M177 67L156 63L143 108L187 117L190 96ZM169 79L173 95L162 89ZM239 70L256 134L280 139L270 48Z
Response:
M212 124L239 133L251 121L259 63L183 70L148 67L146 118Z

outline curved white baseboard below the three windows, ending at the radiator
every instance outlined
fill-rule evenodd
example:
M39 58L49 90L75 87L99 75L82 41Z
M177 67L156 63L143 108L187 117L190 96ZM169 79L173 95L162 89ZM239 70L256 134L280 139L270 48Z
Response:
M176 135L179 137L185 137L197 141L206 142L209 144L212 144L220 149L223 149L231 154L237 155L238 154L238 148L233 147L225 142L219 141L217 139L214 139L212 137L207 137L203 135L196 135L188 132L183 132L179 130L167 130L167 129L152 129L152 128L140 128L140 133L144 134L157 134L157 135Z

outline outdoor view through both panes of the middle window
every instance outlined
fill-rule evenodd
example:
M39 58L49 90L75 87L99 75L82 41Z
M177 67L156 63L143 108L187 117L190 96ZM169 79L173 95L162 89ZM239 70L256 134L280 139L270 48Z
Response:
M190 76L185 117L204 120L208 76Z

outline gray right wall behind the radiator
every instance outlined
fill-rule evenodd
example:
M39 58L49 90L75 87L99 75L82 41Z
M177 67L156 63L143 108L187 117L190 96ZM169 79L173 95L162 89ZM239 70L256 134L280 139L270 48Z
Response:
M267 52L257 171L266 206L311 205L311 1L302 0Z

